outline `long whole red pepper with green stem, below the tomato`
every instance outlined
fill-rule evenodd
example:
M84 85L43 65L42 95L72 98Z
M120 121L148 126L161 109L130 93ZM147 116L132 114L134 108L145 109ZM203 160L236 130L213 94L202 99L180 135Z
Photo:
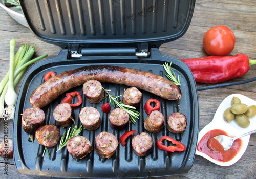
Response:
M251 65L256 64L256 60L249 60L245 54L180 60L189 66L198 83L219 83L237 78L246 74Z

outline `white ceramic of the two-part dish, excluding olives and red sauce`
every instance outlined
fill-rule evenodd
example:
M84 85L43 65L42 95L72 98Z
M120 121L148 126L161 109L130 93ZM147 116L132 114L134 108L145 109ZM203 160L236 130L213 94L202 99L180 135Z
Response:
M234 96L238 97L241 100L241 102L246 104L247 106L256 105L256 101L254 101L244 95L241 95L241 94L232 94L232 95L228 96L227 98L225 98L222 101L222 103L218 107L218 109L214 115L214 119L212 119L212 121L199 132L198 143L202 139L202 137L205 135L205 133L207 133L208 131L213 130L213 129L221 129L221 130L225 131L228 136L231 136L231 137L238 136L245 132L249 132L251 130L256 129L256 116L249 119L250 125L247 128L240 127L236 123L235 120L233 120L229 123L227 123L223 120L223 113L228 107L231 107L231 100ZM210 156L208 156L198 150L196 150L196 154L203 156L205 159L207 159L217 165L230 166L230 165L233 165L234 163L236 163L243 156L243 154L248 146L248 143L250 140L250 135L242 137L241 140L242 140L242 148L240 149L238 154L236 156L234 156L234 158L228 162L218 162L215 159L210 158Z

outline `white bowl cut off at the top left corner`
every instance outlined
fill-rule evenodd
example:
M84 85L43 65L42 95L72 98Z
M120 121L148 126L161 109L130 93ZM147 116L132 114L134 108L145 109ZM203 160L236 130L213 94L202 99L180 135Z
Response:
M28 27L27 22L24 18L22 11L14 11L13 8L8 8L5 6L4 0L0 0L0 6L6 10L6 12L19 24Z

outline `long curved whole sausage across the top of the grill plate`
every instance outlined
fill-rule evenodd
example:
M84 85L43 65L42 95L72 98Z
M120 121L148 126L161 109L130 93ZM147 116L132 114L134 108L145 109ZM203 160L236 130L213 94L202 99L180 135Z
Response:
M119 66L91 65L50 78L35 89L29 101L33 107L45 107L60 94L88 80L134 86L168 100L181 98L177 85L153 73Z

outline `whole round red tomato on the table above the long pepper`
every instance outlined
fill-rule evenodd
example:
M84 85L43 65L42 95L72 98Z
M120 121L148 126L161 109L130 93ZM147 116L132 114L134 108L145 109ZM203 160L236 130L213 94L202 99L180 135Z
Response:
M208 55L226 56L234 49L234 43L234 33L222 25L209 29L203 38L204 50Z

